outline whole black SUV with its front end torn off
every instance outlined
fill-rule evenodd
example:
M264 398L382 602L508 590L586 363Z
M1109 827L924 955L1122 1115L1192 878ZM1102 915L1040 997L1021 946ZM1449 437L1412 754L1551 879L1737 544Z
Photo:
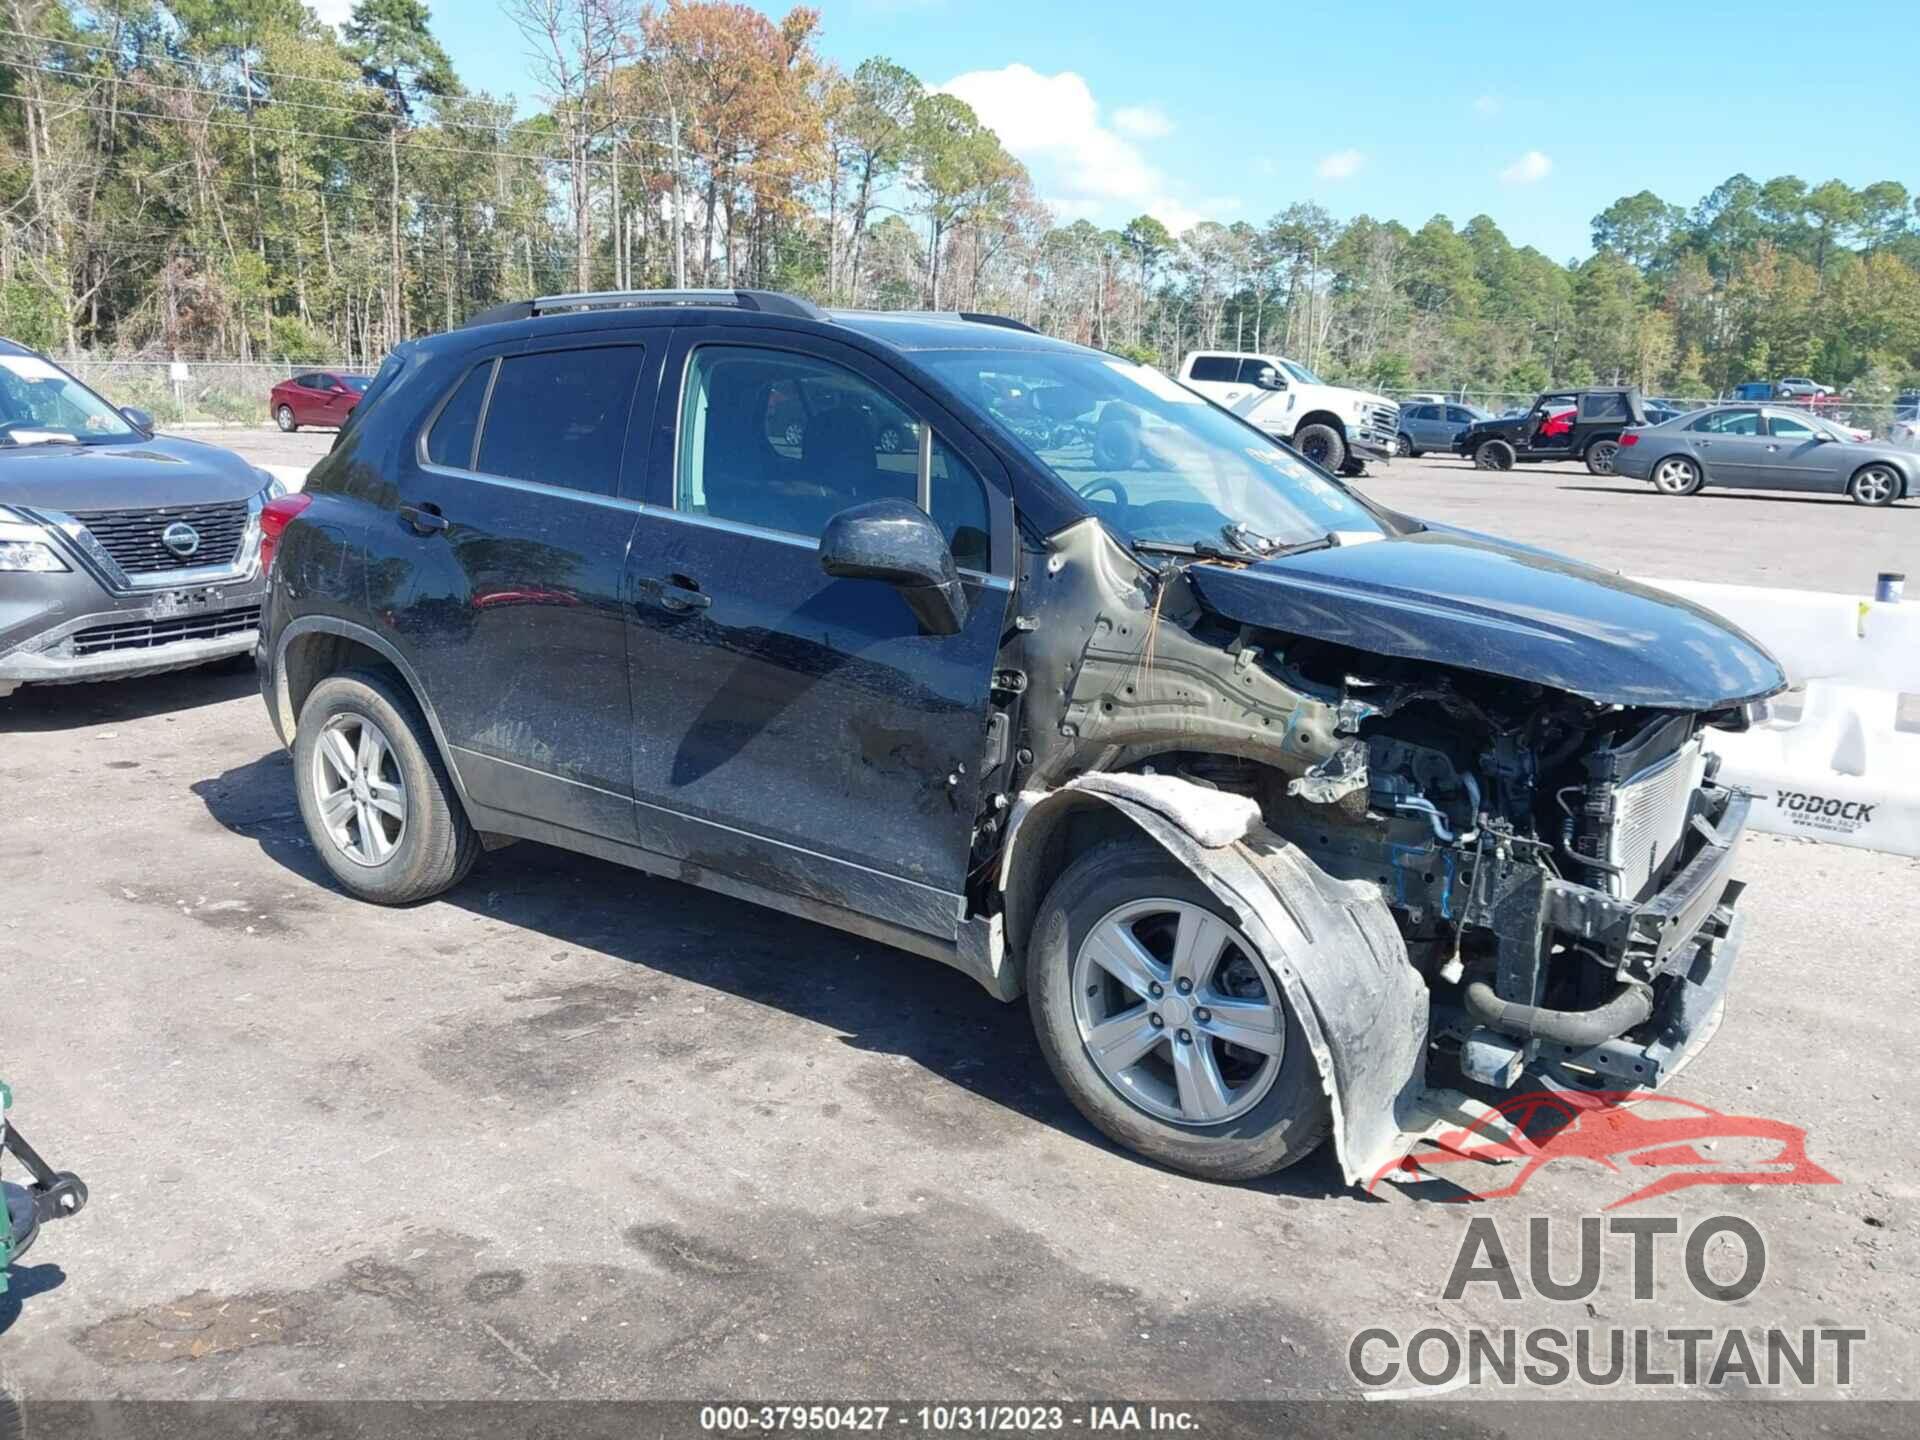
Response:
M267 710L365 899L534 839L877 937L1213 1177L1332 1133L1365 1183L1459 1114L1430 1060L1653 1085L1718 1018L1703 732L1764 651L1014 321L505 305L269 530Z

